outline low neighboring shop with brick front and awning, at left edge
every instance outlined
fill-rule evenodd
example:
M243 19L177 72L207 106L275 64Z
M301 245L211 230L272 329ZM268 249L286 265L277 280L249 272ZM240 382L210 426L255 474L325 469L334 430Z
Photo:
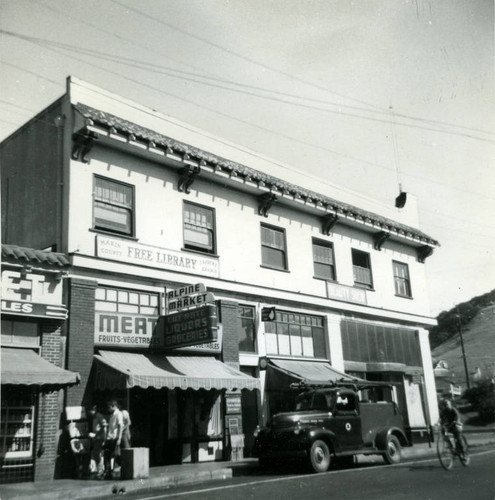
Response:
M58 457L68 317L66 256L2 245L0 483L49 480Z

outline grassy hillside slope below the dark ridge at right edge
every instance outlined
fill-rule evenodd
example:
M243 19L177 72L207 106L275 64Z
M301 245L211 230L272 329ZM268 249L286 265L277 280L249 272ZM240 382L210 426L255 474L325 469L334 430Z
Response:
M462 328L464 348L470 381L475 382L477 372L481 377L495 376L495 305L480 309ZM432 349L433 363L446 361L454 380L465 387L464 363L459 334Z

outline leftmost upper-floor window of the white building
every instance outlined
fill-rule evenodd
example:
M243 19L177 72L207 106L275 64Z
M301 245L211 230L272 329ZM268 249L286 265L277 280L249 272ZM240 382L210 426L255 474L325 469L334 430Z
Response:
M134 235L134 187L105 177L94 178L93 227Z

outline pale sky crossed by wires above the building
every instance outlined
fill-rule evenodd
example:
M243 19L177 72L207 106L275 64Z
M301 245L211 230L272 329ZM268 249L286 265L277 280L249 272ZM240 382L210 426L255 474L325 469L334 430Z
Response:
M433 315L495 288L492 0L0 0L0 30L0 141L72 75L385 205L414 194Z

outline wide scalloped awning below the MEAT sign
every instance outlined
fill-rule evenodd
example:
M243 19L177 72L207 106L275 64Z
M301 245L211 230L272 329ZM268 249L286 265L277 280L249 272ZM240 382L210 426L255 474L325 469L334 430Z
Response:
M95 358L99 389L260 389L258 379L212 356L100 351Z

